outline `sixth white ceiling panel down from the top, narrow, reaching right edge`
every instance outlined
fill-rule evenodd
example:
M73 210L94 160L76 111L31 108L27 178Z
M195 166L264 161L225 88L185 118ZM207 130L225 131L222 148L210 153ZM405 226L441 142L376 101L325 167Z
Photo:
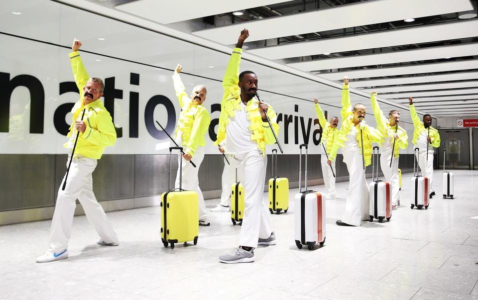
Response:
M455 80L474 80L478 79L478 72L463 72L452 74L441 74L433 76L413 76L413 77L400 77L389 79L377 79L377 80L361 80L351 81L350 84L355 88L362 87L379 87L379 86L392 86L392 85L406 85L416 83L427 82L442 82L442 81L455 81Z

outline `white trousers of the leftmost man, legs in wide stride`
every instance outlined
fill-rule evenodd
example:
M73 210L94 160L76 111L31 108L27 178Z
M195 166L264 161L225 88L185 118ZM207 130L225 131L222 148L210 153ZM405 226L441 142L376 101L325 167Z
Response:
M67 167L69 162L70 158L67 160ZM68 248L77 199L80 201L85 210L86 217L95 227L101 239L105 243L118 242L115 229L111 226L103 207L96 200L95 194L93 194L92 173L96 165L96 159L87 157L73 159L65 191L61 190L65 180L65 177L63 177L51 221L51 251L59 252Z

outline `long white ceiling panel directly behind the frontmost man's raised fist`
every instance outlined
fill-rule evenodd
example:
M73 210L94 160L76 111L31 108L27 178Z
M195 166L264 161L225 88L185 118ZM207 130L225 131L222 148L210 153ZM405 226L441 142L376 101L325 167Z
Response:
M231 1L224 2L228 2L229 4ZM254 6L258 5L254 4ZM413 7L413 9L410 9L410 7ZM237 37L242 28L248 28L250 31L248 41L256 41L470 9L473 9L473 6L469 0L364 1L284 16L240 22L222 27L194 31L193 34L229 45L237 41Z

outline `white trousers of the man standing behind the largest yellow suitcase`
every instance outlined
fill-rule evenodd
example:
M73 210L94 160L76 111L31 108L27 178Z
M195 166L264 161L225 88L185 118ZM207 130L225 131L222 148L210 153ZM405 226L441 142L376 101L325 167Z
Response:
M203 192L201 188L199 188L199 168L201 167L201 163L204 159L204 147L198 147L196 149L196 153L194 157L191 159L193 163L196 165L196 168L193 165L185 160L182 159L182 185L181 188L183 190L194 191L198 193L198 202L199 202L199 219L206 221L208 219L208 211L206 210L206 203L204 203ZM178 156L178 164L181 160L181 157ZM179 189L179 167L178 173L176 173L176 182L174 184L175 189Z

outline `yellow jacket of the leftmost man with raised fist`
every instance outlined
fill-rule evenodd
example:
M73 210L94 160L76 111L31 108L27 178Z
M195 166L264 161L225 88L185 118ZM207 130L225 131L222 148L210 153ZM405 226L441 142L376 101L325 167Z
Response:
M83 101L83 87L86 85L90 76L81 61L80 53L78 51L69 54L71 61L71 68L73 76L75 77L76 86L82 95L81 99L75 103L71 112L73 113L73 122L70 126L68 137L71 136L74 129L75 120L80 119L85 110L83 121L86 123L85 132L78 136L78 143L76 144L74 157L78 155L100 159L105 151L105 147L113 146L116 143L115 125L110 113L106 110L103 102L98 99L84 105ZM65 148L68 143L65 143Z

